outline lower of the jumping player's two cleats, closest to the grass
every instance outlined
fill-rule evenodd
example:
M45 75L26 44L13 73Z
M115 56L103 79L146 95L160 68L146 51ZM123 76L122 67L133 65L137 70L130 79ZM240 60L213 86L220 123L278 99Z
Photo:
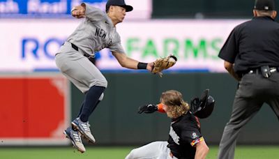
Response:
M73 146L77 149L77 151L80 151L81 153L84 153L85 147L82 144L82 138L80 137L80 132L73 130L72 128L67 128L64 130L64 134L70 141L73 143Z

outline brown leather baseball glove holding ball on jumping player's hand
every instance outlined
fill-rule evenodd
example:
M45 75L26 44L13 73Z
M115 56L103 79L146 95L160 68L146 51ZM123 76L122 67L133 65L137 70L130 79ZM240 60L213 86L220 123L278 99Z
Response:
M163 75L162 71L174 66L176 61L177 61L176 56L174 56L172 54L165 58L157 59L154 62L152 73L153 74L158 73L158 75L160 75L160 77L162 77L162 75Z

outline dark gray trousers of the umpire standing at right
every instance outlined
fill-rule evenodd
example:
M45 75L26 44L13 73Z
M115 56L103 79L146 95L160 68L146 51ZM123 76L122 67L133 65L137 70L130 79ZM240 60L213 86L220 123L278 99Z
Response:
M236 138L243 126L267 103L279 119L279 73L264 78L260 74L246 74L236 91L232 116L225 126L219 146L219 159L233 159Z

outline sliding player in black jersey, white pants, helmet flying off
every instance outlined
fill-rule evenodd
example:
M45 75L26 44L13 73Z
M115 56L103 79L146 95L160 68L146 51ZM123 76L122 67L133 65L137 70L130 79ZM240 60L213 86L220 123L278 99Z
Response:
M140 107L139 113L166 112L172 119L168 141L151 142L133 149L126 159L206 158L209 147L202 137L199 119L190 112L190 106L183 100L182 94L174 90L165 91L160 102L159 105ZM199 103L204 106L197 107L198 109L203 109L206 105L213 109L214 100L211 96L206 96L203 100L199 100ZM211 112L206 113L206 116L207 114Z

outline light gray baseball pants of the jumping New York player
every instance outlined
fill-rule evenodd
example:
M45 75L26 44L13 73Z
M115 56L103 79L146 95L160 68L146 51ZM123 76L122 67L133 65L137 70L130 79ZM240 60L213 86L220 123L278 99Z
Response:
M55 56L56 66L82 93L86 93L91 86L106 88L107 79L83 54L82 50L78 52L69 42L65 42ZM102 99L103 94L99 100Z

